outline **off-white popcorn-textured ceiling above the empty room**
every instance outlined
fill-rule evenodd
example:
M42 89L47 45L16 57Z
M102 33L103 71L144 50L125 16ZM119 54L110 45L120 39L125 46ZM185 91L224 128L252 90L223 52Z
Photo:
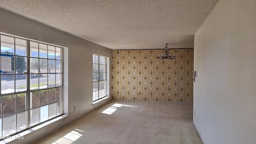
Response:
M0 8L110 49L193 48L219 0L1 0Z

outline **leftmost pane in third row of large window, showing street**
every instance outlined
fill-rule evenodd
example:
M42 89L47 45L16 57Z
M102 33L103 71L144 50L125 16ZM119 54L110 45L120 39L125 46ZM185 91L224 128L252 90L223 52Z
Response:
M14 75L1 76L1 94L14 92Z

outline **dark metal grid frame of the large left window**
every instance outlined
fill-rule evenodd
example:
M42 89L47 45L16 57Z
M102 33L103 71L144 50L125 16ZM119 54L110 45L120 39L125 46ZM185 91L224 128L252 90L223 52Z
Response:
M64 95L63 95L64 94L64 89L63 89L63 84L64 84L63 83L63 79L64 79L64 75L63 75L64 47L57 46L57 45L54 45L54 44L45 43L45 42L41 42L41 41L37 41L37 40L30 40L30 39L27 39L27 38L22 38L20 36L14 36L14 35L0 33L0 48L1 48L1 50L2 50L1 36L6 36L6 37L14 38L14 54L13 55L12 54L11 55L7 54L8 56L14 57L14 66L13 66L14 67L14 74L2 74L2 73L0 73L0 78L1 78L1 80L0 80L0 105L1 105L1 108L0 108L0 112L1 112L1 114L0 114L0 126L1 126L1 128L0 128L0 135L1 136L12 136L14 134L20 133L20 132L22 132L24 130L28 130L29 128L32 128L34 126L38 126L39 124L42 124L42 123L44 123L46 121L52 120L52 119L54 119L54 118L56 118L58 116L63 115L63 111L64 111L64 109L63 109L63 104L64 104L64 102L63 102L63 99L64 99ZM26 41L25 56L18 56L16 54L16 39L21 39L21 40L25 40ZM44 44L44 45L47 46L47 50L46 50L47 58L42 58L44 60L47 60L47 71L45 73L43 73L43 74L47 74L47 76L46 76L46 79L47 79L47 86L46 86L46 88L40 88L40 74L41 73L38 72L38 78L37 78L38 79L38 89L36 89L36 90L31 89L31 82L30 81L32 79L31 78L31 74L32 73L30 72L30 66L31 66L30 59L34 58L34 57L32 57L30 55L30 42L38 43L38 45L39 44ZM50 52L48 51L49 50L48 49L49 46L51 46L52 48L54 47L54 58L49 58L49 54L50 54ZM6 47L6 48L8 48L8 47ZM56 53L56 48L60 49L60 52L58 53L59 56L60 56L60 59L56 58L56 56L57 56L56 55L57 54ZM3 54L1 52L1 56L2 55ZM24 71L21 74L16 73L16 57L23 57L25 59L25 61L26 61L26 73L24 73ZM38 60L39 59L40 59L40 48L38 47ZM54 72L50 72L50 71L48 71L49 70L48 64L49 64L49 61L53 62L53 60L55 62L55 64L54 64ZM56 61L58 61L60 63L56 64ZM59 64L60 64L60 68L56 67ZM56 71L57 68L60 69L59 72ZM48 76L48 74L54 75L54 86L52 86L52 87L49 87L49 77L50 76ZM57 80L56 80L57 79L56 78L57 74L60 75L59 76L60 77L60 85L58 85L58 86L56 85L57 84ZM13 80L14 81L14 92L2 93L2 76L8 76L8 75L14 75L14 80ZM17 86L16 86L16 81L17 81L16 76L18 76L18 75L26 75L26 90L20 91L20 92L17 91L17 89L16 89L17 88ZM50 102L50 90L53 90L52 94L53 94L53 96L55 95L55 101L54 102L53 101ZM59 91L57 92L57 90L59 90ZM40 93L41 93L41 91L47 91L47 95L48 95L48 97L47 97L48 98L48 103L47 104L40 105ZM54 91L55 91L55 93L54 93ZM39 106L33 107L33 108L32 108L32 105L31 105L32 92L38 92L39 93ZM18 100L17 98L18 98L18 95L20 95L20 94L24 94L25 95L24 96L24 98L25 98L25 100L24 100L24 102L25 102L25 104L24 104L25 110L22 110L22 111L18 111L18 108L17 108L18 107L17 106L17 100ZM12 114L8 114L6 116L3 116L3 113L2 113L3 112L3 108L2 108L2 106L3 106L3 97L4 96L12 96L12 95L15 95L15 107L16 107L15 108L15 112L12 113ZM60 105L59 107L58 107L58 104ZM54 106L54 105L55 105L55 116L50 117L50 106ZM46 120L42 120L41 121L40 109L41 109L41 107L44 107L44 106L46 106L46 107L48 106L47 114L45 112L45 114L48 115L48 118ZM39 113L39 122L37 124L33 124L32 125L31 118L30 118L31 115L32 115L31 114L31 112L32 112L31 110L34 110L36 108L39 108L39 112L40 112ZM54 108L54 107L52 107L52 108ZM26 117L25 118L26 119L26 128L22 128L21 130L18 130L18 124L19 124L18 123L18 114L21 114L22 112L26 113L26 115L25 115L25 117ZM4 134L4 132L3 132L3 128L4 128L3 118L6 118L8 116L14 116L14 115L16 116L15 132L11 133L9 135L3 135Z

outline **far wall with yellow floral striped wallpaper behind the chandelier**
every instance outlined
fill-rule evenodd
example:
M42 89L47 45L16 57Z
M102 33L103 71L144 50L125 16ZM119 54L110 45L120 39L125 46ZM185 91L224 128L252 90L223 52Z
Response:
M112 99L192 103L194 49L170 49L175 60L158 60L162 52L113 50Z

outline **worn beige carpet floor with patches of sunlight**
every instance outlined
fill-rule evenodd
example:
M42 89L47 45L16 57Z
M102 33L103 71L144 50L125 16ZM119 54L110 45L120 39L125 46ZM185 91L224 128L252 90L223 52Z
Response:
M33 144L202 144L193 104L113 100Z

